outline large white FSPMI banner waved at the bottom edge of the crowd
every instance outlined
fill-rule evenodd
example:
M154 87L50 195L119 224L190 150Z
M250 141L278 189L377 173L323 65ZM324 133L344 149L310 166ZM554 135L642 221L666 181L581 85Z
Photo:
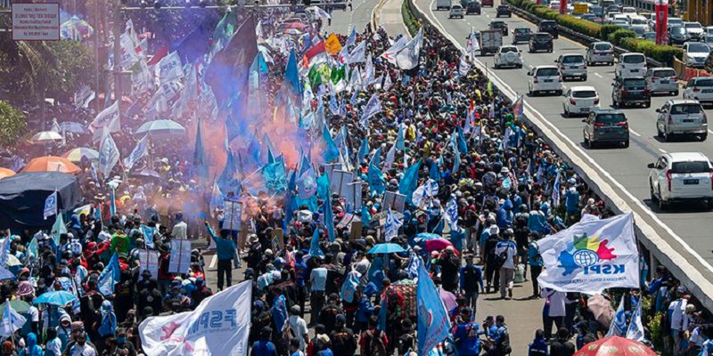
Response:
M147 355L248 354L250 281L209 296L193 312L151 317L139 325Z

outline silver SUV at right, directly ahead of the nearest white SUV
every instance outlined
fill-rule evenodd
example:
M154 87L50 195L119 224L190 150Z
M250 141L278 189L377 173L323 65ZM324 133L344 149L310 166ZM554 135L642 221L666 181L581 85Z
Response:
M656 119L656 134L668 142L675 135L695 135L701 141L708 137L708 117L700 101L669 99L660 109Z

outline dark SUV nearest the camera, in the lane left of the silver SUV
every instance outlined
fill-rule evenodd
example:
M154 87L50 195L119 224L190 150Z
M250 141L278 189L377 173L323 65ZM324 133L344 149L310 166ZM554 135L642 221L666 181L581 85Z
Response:
M585 123L582 135L589 150L600 143L618 143L629 147L629 125L627 116L617 109L599 109L582 119Z

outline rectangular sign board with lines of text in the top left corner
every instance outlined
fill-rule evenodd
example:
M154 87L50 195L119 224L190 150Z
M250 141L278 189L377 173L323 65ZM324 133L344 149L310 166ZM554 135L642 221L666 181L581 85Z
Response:
M59 41L60 4L12 4L12 40Z

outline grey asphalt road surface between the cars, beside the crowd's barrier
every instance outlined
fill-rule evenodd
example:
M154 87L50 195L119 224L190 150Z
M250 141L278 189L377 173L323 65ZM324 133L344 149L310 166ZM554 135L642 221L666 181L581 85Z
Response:
M448 19L448 12L434 10L431 0L415 0L416 4L427 14L434 17L447 29L447 32L465 46L466 36L471 32L471 27L477 29L488 28L488 23L495 20L495 8L483 8L482 15L468 15L465 19ZM427 10L428 9L428 10ZM508 23L509 28L535 26L515 16L512 19L501 18ZM504 43L510 44L511 36L504 37ZM562 53L585 53L585 47L566 38L554 41L553 53L528 53L527 44L520 44L522 51L523 69L493 69L492 57L479 57L479 61L488 64L488 70L493 70L497 77L504 80L517 93L528 92L527 71L529 66L553 64L553 61ZM566 82L565 85L593 85L602 98L602 108L611 105L611 82L613 81L613 67L590 67L586 82ZM631 146L628 149L608 148L599 150L585 150L582 140L582 126L580 118L565 118L562 115L561 97L526 97L533 108L555 125L563 134L573 142L582 145L583 150L594 161L602 166L611 176L634 195L636 199L648 206L654 214L676 233L684 242L692 247L701 257L713 263L713 254L710 249L710 231L713 223L713 212L705 211L700 206L676 206L667 211L660 211L653 206L649 198L648 174L646 164L653 162L662 152L666 151L701 151L713 158L713 145L710 142L695 142L687 140L682 142L660 142L655 137L656 113L655 109L667 101L669 96L656 96L652 98L650 109L624 109L631 128ZM680 98L680 96L679 96ZM713 110L706 110L709 117L713 117Z

